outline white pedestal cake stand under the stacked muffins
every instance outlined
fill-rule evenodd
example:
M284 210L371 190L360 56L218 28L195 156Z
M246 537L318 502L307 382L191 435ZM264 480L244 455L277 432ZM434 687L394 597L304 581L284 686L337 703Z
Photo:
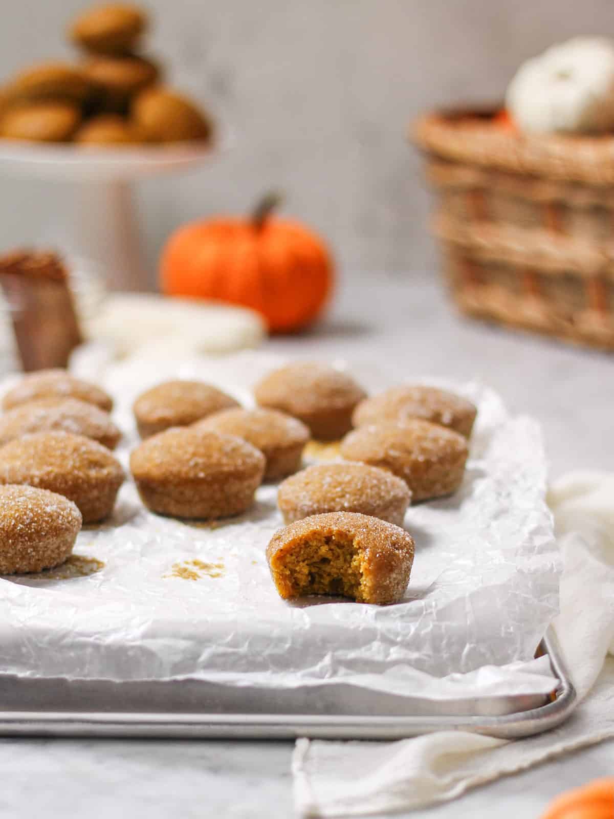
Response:
M229 133L220 133L212 145L177 143L125 148L1 140L0 174L63 183L70 190L68 201L54 197L51 190L48 195L56 240L63 243L70 256L102 264L109 289L142 290L147 275L142 266L131 182L212 162L232 142Z

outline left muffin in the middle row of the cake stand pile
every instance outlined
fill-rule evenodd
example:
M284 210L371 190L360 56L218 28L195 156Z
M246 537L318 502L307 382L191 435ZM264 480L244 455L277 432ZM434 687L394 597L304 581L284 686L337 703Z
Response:
M72 102L79 106L91 90L79 68L63 62L44 62L16 75L7 93L12 102Z

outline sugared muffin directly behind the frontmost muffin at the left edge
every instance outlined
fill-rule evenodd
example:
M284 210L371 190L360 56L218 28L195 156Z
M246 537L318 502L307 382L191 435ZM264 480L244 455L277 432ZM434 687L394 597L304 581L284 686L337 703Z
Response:
M70 432L36 432L0 448L0 484L25 483L64 495L84 523L108 517L124 470L106 446Z

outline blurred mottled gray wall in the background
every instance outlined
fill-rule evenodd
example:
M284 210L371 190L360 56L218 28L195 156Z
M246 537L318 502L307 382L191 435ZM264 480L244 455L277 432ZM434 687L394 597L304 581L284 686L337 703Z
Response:
M237 131L233 152L138 184L151 282L169 231L242 212L273 187L321 230L345 274L432 265L428 197L409 120L501 95L519 61L574 34L614 32L612 0L147 0L148 48ZM69 56L80 0L0 0L0 76ZM0 177L0 247L52 236L65 192Z

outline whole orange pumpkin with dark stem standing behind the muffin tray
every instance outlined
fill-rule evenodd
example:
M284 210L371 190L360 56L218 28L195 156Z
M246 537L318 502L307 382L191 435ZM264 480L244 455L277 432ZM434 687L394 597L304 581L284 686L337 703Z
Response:
M273 218L278 201L265 197L251 219L219 217L178 229L162 251L162 291L251 307L273 333L312 322L332 289L332 259L303 225Z

